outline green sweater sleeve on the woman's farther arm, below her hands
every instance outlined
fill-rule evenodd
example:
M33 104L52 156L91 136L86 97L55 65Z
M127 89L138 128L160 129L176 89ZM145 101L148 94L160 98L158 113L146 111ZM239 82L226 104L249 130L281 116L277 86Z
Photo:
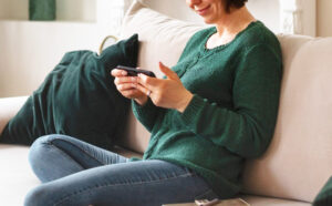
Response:
M148 132L152 132L158 114L165 111L165 109L154 105L151 99L148 99L144 105L139 105L132 100L132 107L135 117L145 126Z

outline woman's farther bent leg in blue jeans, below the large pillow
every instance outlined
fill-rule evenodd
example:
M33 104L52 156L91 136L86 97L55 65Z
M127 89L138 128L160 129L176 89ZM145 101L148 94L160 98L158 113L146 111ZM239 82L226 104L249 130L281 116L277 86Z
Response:
M41 182L54 181L87 168L127 162L126 157L65 135L39 137L29 161Z

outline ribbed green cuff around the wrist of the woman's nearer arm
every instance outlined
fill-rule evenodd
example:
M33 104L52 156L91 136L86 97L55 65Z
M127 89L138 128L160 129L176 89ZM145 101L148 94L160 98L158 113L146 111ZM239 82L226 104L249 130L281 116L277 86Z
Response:
M199 111L203 110L205 100L198 95L194 95L186 110L181 114L184 122L189 123L197 119Z

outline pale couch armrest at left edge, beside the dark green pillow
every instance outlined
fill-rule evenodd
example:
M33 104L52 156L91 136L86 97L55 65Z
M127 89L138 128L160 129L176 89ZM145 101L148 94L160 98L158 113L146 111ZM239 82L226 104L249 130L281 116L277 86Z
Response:
M22 105L25 103L28 96L2 97L0 99L0 134L7 125L8 121L12 119Z

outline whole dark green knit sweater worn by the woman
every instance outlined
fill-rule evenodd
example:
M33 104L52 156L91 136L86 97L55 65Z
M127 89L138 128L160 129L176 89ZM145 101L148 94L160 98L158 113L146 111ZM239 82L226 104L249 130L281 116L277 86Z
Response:
M184 113L151 101L133 101L133 111L152 133L144 159L189 167L228 198L241 188L245 159L260 156L273 135L282 62L278 39L260 21L206 49L216 31L194 34L173 68L194 94Z

